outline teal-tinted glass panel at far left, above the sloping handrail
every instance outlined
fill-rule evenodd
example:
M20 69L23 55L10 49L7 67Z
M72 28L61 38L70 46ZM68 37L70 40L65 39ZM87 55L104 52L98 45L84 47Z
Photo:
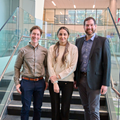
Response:
M2 74L12 52L14 51L14 46L19 40L19 34L17 31L18 10L18 8L15 10L11 18L0 31L0 75Z

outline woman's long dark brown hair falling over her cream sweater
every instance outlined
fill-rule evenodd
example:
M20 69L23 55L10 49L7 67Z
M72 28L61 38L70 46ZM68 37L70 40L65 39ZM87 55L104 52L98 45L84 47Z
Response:
M70 35L68 28L66 28L66 27L64 27L64 26L63 26L63 27L60 27L60 28L58 29L57 35L59 34L59 31L62 30L62 29L66 30L67 33L68 33L68 35ZM60 43L59 43L59 42L57 42L57 43L55 44L55 46L54 46L54 58L55 58L55 62L57 62L57 57L59 56L59 46L60 46ZM61 59L61 61L62 61L62 63L63 63L64 65L65 65L65 61L66 61L66 56L67 56L68 53L69 53L68 47L69 47L69 42L67 41L67 43L66 43L66 45L65 45L65 50L64 50L64 53L63 53L63 56L62 56L62 59Z

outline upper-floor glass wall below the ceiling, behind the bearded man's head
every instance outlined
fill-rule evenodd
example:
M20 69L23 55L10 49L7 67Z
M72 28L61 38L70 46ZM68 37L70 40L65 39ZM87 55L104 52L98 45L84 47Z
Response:
M103 25L103 20L100 19L103 18L101 17L103 11L102 9L45 9L43 18L52 24L83 25L84 19L91 16L97 23Z

